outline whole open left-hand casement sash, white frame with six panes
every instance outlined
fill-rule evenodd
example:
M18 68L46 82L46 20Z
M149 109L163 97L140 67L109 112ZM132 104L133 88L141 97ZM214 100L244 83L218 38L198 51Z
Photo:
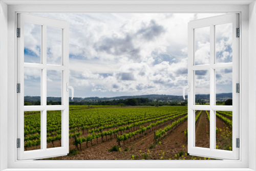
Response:
M66 21L17 14L18 160L69 153L68 38L69 24ZM38 94L30 94L30 90ZM25 104L25 96L34 101L33 105ZM47 97L50 96L61 100L56 105L48 105ZM50 122L50 118L55 118L55 123ZM53 139L58 143L54 144Z

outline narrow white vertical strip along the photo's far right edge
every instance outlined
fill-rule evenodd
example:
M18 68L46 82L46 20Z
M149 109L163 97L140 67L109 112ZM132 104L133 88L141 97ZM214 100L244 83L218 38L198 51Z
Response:
M249 168L256 170L256 137L255 137L255 121L256 121L256 8L255 2L249 5L249 111L253 115L249 115ZM253 134L254 133L254 134Z

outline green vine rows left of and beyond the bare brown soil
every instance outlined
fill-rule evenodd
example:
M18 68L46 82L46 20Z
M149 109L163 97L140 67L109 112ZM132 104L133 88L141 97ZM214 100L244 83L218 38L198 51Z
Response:
M143 101L143 99L140 99ZM186 106L147 106L143 108L91 108L91 106L70 106L69 138L76 149L88 142L93 145L98 138L116 138L127 141L132 137L147 134L158 125L176 117L186 115ZM105 107L105 106L103 106ZM40 145L40 112L24 112L24 147ZM136 131L135 131L136 130ZM124 132L128 132L125 133ZM59 143L58 143L58 142ZM52 146L61 144L61 111L47 111L47 142ZM99 141L100 142L100 141Z

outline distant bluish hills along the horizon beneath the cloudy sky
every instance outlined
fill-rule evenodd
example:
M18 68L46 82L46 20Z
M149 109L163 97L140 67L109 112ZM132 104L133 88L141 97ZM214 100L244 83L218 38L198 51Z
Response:
M209 94L197 94L197 99L209 99ZM140 96L117 96L117 97L74 97L74 101L112 101L119 99L129 99L129 98L148 98L150 100L162 100L162 101L183 101L183 96L173 96L173 95L159 95L159 94L151 94L151 95L140 95ZM187 96L186 96L187 98ZM223 99L231 99L232 93L220 93L216 94L217 100ZM25 101L40 101L40 96L25 96ZM47 101L61 101L60 97L47 97ZM70 98L71 101L71 98Z

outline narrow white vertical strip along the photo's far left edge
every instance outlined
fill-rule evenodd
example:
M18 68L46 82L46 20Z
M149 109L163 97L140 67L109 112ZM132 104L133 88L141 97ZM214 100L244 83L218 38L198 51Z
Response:
M7 129L7 100L8 100L8 92L7 92L7 83L8 83L8 58L7 58L7 36L8 36L8 6L0 2L0 129ZM0 134L0 170L7 168L7 134ZM4 153L3 153L4 152Z

